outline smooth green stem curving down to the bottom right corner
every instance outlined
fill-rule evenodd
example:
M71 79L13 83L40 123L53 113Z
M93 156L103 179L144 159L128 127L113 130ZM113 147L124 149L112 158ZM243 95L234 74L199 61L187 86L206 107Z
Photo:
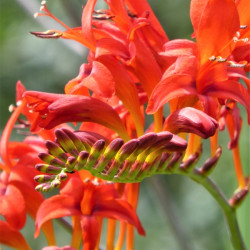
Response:
M192 180L198 182L214 197L223 210L234 250L246 250L236 218L236 209L230 206L224 194L216 184L209 177L202 175L198 169L194 169L191 172L185 172L178 169L177 173L186 175Z

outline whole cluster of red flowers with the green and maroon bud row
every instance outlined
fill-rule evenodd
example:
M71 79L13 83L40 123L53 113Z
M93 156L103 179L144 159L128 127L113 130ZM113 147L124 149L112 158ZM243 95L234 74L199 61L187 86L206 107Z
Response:
M0 242L9 246L30 249L20 233L28 213L35 237L42 229L48 245L56 245L51 220L71 216L69 249L82 243L84 250L99 249L104 218L107 249L114 249L117 221L115 249L125 238L133 249L134 228L145 235L136 214L139 183L155 174L207 178L226 127L239 184L228 206L248 192L238 144L238 104L250 124L247 0L192 0L192 40L169 40L146 0L106 0L105 10L96 10L96 2L87 1L81 27L62 23L45 1L35 14L53 18L64 31L33 35L77 41L89 54L64 94L17 83L17 106L0 145ZM146 115L152 115L149 127ZM23 142L9 141L15 127L29 129ZM196 168L208 138L211 157ZM39 192L55 188L59 194L48 199Z

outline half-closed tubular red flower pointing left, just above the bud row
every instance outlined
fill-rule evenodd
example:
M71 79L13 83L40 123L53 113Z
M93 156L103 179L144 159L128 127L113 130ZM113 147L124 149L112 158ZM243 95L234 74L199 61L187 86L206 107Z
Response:
M37 122L41 128L51 129L66 122L96 122L128 139L126 129L117 112L96 98L36 91L25 92L24 98L33 111L39 112L42 116Z

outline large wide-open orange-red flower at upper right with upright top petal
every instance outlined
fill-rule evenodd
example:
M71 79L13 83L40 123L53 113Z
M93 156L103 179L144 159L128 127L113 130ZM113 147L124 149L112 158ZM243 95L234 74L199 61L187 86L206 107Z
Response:
M229 60L236 46L234 37L240 29L237 6L230 0L193 0L191 20L197 44L187 40L166 43L165 52L160 55L168 68L153 90L148 113L156 112L167 102L173 112L199 101L199 109L218 119L218 103L232 99L245 106L250 123L249 91L228 70L228 64L233 63ZM239 76L245 80L244 74L238 73Z

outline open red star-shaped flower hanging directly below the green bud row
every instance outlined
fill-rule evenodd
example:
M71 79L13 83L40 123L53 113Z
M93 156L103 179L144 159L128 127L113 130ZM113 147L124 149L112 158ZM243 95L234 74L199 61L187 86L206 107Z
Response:
M127 201L119 198L112 184L71 178L59 195L47 199L40 206L35 236L45 222L64 216L80 216L84 249L94 249L97 244L100 234L98 218L125 221L145 235L135 211Z

